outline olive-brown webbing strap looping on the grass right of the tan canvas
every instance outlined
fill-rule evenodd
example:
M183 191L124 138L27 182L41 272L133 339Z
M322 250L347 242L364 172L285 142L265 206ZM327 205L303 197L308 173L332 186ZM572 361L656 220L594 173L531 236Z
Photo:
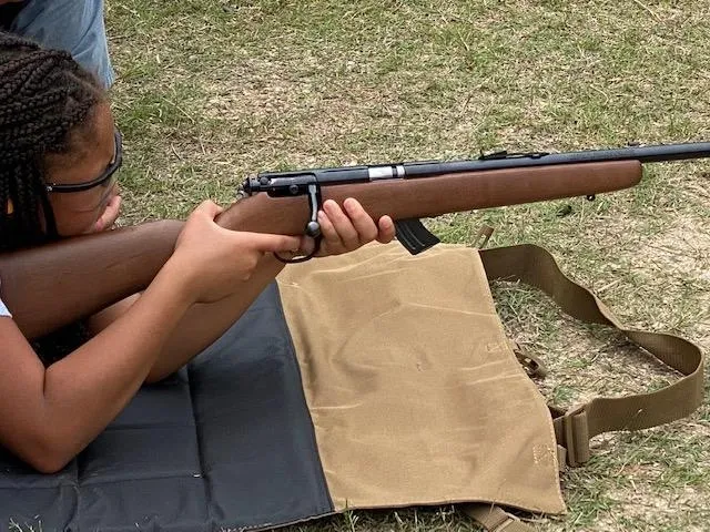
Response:
M672 335L627 329L609 308L586 288L567 278L546 249L520 245L479 250L489 280L521 282L550 296L574 318L617 328L629 340L680 371L672 385L650 393L599 397L554 419L557 441L567 450L567 463L577 467L589 460L589 439L616 430L656 427L692 413L702 402L702 351L694 344Z

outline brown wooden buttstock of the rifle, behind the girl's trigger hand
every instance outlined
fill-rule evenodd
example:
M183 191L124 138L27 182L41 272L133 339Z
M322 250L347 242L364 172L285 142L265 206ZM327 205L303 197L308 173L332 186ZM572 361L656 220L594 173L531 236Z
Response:
M143 290L173 253L183 223L160 221L0 255L0 295L28 338Z

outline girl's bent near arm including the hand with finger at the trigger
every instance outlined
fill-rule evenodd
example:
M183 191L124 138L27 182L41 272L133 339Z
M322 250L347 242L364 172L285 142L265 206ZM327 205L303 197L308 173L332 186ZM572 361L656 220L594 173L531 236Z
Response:
M125 407L191 306L231 297L264 256L300 245L219 227L220 211L195 209L131 308L48 369L13 319L0 318L0 444L40 471L61 469Z

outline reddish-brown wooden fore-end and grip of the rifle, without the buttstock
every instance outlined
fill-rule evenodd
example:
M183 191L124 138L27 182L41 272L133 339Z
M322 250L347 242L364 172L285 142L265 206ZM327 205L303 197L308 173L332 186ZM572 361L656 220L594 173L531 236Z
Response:
M641 176L638 161L615 161L328 185L322 195L323 201L337 203L354 197L374 219L384 215L424 218L613 192L638 184ZM229 227L239 231L297 235L303 233L310 208L305 196L271 197L262 192L239 201L222 216L229 219Z

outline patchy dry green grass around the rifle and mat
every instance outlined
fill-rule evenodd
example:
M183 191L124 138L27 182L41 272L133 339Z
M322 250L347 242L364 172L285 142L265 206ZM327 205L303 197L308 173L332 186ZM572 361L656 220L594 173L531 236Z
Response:
M710 140L707 1L109 2L125 133L122 223L227 203L263 170ZM638 187L442 216L445 242L537 243L633 327L710 347L710 166L655 164ZM564 405L672 379L539 295L496 286L511 337ZM710 406L595 440L544 531L706 530ZM354 512L293 530L474 530L450 508Z

